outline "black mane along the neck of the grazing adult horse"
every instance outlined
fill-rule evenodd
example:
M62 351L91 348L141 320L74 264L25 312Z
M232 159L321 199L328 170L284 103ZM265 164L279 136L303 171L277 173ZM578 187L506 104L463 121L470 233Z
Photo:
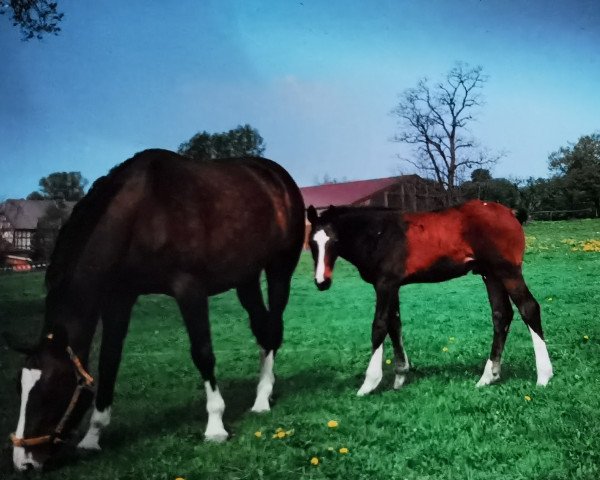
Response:
M94 227L106 212L115 194L122 188L127 176L121 175L139 153L113 167L98 178L89 192L75 205L71 216L61 228L46 271L46 289L62 288L70 278Z

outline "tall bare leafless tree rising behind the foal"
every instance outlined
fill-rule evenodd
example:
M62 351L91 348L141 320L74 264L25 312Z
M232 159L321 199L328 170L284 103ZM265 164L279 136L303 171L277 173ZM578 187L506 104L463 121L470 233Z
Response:
M481 148L468 128L483 104L481 90L488 77L482 72L481 66L457 63L444 81L430 86L423 78L405 90L392 110L401 130L392 141L415 146L415 159L401 160L433 177L445 189L448 205L469 170L493 165L502 156Z

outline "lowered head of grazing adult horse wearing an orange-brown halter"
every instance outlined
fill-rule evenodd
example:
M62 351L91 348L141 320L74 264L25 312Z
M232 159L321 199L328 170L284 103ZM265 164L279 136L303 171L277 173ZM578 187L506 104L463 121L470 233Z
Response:
M39 470L90 406L93 379L56 329L28 353L20 374L21 408L12 437L16 470Z

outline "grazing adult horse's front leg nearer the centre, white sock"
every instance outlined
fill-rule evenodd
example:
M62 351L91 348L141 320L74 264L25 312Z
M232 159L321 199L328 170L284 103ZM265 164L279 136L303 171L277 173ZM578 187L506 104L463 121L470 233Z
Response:
M229 434L223 425L225 402L215 379L215 355L208 321L208 297L202 293L202 285L190 278L179 279L173 289L190 338L192 360L204 380L208 412L204 437L209 441L223 442Z

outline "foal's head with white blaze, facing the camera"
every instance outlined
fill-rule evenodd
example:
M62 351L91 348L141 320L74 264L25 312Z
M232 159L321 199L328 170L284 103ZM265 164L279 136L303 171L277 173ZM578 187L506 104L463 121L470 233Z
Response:
M326 211L331 213L334 207ZM338 257L338 233L329 215L319 216L312 205L306 210L311 224L308 244L315 262L315 284L319 290L327 290L331 286L333 266Z

